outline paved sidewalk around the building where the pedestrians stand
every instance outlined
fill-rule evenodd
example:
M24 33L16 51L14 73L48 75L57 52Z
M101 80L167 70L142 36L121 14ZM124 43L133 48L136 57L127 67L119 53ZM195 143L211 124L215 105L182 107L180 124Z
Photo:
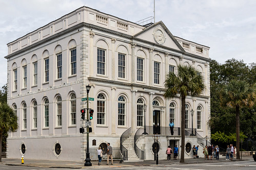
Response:
M216 158L212 160L205 160L204 158L191 158L185 159L186 164L193 163L207 163L207 162L230 162L230 160L225 160L226 157L220 157L220 160ZM252 159L251 156L243 156L242 160L233 161L244 161ZM21 159L9 159L2 158L0 164L14 165L14 166L31 166L31 167L44 167L44 168L103 168L103 167L126 167L126 166L157 166L154 160L146 160L141 162L123 162L122 164L119 161L114 161L113 165L107 165L107 161L102 161L102 165L98 165L97 161L91 161L92 166L84 166L84 162L75 162L75 161L55 161L55 160L37 160L37 159L24 159L24 164L21 164ZM170 164L181 164L180 159L178 160L159 160L159 165L170 165Z

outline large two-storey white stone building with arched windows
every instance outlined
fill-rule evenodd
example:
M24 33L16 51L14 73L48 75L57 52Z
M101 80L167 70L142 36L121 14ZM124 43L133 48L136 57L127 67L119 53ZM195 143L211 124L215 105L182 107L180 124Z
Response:
M149 134L139 136L137 147L143 159L153 159L150 128L157 127L159 158L166 159L168 145L181 145L178 128L173 136L168 131L170 120L181 125L181 100L163 97L165 77L179 64L197 68L207 87L199 97L186 99L186 128L191 128L193 109L198 136L187 136L185 143L210 136L209 47L173 36L162 21L144 27L81 7L7 45L8 103L19 124L7 139L9 158L84 160L80 110L86 108L82 98L90 84L90 147L110 142L120 148L121 135L130 128L133 139L146 113ZM128 160L131 152L134 147L128 149ZM191 153L187 150L186 158Z

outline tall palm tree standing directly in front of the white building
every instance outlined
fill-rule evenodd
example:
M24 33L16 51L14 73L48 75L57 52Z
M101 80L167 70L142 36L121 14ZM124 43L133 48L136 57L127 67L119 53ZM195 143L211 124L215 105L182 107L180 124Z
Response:
M165 80L166 91L164 97L168 99L174 98L176 95L181 97L181 160L184 161L185 149L185 104L186 96L196 96L201 94L204 89L204 79L201 74L196 71L193 66L178 65L176 75L169 72Z

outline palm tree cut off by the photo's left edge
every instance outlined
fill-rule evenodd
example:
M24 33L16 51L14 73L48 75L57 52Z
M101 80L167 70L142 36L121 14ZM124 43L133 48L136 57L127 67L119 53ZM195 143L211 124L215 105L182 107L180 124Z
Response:
M18 129L17 116L7 103L0 103L0 153L2 155L3 134ZM2 156L0 156L2 162Z

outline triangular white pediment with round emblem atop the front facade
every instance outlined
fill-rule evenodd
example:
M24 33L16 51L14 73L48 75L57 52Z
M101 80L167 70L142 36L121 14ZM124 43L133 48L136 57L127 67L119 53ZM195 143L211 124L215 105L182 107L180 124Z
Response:
M154 23L133 37L135 39L140 39L185 52L183 47L179 44L179 42L175 39L162 21Z

